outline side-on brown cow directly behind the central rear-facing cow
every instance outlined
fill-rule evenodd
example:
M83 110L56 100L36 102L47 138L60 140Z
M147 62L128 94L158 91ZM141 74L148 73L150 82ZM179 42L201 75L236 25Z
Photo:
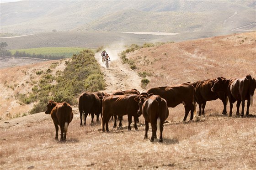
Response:
M164 98L169 108L174 108L180 103L184 104L185 116L183 122L186 121L189 111L191 111L190 120L193 119L194 112L196 113L195 88L189 83L185 82L175 86L150 88L147 90L147 93L153 93Z

